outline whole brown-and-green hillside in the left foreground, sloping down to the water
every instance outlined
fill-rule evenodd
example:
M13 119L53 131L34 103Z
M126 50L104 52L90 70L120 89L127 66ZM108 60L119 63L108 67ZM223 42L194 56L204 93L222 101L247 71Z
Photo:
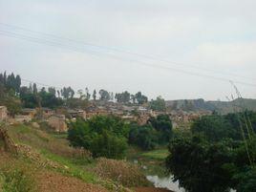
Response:
M90 152L71 147L66 137L44 123L1 125L0 191L166 191L152 187L137 165L93 159Z

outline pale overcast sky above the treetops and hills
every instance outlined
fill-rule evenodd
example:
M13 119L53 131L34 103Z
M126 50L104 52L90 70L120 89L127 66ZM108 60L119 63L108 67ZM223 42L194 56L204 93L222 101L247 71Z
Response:
M256 98L255 0L0 0L0 72L165 99ZM28 82L23 81L23 84Z

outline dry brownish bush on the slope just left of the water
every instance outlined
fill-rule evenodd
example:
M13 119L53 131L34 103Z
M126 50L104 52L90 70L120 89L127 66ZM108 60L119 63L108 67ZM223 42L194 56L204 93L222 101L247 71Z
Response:
M148 184L139 167L124 160L101 158L97 160L95 172L103 179L116 181L118 184L127 187Z

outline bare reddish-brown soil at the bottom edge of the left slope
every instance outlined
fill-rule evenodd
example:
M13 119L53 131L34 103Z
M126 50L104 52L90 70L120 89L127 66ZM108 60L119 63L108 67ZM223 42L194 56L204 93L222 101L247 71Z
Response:
M40 192L107 192L103 187L85 183L76 178L62 176L58 173L43 172L37 176Z

